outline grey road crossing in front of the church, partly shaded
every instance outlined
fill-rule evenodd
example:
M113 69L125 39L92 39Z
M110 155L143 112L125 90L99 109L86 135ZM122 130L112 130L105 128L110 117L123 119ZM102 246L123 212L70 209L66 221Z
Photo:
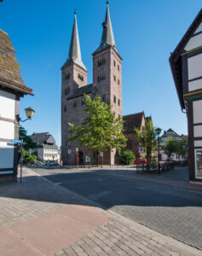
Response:
M202 193L102 176L99 171L32 169L126 218L202 250Z

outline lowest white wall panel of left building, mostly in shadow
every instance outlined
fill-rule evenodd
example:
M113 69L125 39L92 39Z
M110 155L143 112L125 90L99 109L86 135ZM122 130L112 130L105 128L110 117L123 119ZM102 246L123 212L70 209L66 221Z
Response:
M12 143L0 142L0 168L13 168L13 167L14 167L14 145Z

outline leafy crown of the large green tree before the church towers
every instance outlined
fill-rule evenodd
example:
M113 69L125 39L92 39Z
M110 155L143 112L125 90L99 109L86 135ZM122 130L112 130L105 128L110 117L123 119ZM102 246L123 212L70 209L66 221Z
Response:
M69 137L67 141L78 143L78 145L95 151L97 156L100 152L121 149L126 146L127 139L123 134L123 119L121 116L115 118L112 106L101 102L101 96L84 96L84 111L87 113L81 125L70 124Z

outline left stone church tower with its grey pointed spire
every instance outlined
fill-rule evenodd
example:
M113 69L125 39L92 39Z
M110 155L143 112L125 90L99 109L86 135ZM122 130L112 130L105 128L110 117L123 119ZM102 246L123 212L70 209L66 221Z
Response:
M69 55L65 64L61 67L61 158L64 164L66 164L67 159L68 123L72 121L69 115L72 106L67 104L66 99L72 96L78 88L87 84L87 73L88 71L81 58L77 13L75 11Z

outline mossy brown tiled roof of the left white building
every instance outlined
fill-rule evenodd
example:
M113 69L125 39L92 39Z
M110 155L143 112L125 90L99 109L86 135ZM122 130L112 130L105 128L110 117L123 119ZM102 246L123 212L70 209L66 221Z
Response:
M20 66L15 58L14 46L9 35L0 29L0 85L19 91L22 94L32 94L32 89L26 87L20 76Z

